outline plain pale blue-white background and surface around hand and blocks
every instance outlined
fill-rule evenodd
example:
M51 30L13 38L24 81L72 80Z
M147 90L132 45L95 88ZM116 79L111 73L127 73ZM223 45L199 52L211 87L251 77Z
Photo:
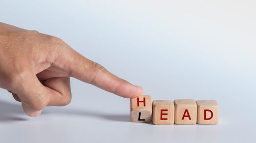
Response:
M71 80L37 118L0 89L0 142L253 142L255 1L3 1L0 21L57 36L153 100L215 99L218 125L130 122L130 100ZM0 79L1 80L1 79Z

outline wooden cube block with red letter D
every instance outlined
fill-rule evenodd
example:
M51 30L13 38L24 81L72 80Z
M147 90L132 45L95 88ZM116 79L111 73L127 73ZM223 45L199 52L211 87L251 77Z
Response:
M197 101L197 123L198 124L218 124L219 105L216 100Z

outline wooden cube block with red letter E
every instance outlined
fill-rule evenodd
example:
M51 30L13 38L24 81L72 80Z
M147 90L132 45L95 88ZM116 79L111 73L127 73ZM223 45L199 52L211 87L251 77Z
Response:
M153 105L153 124L174 124L174 102L171 100L155 100Z

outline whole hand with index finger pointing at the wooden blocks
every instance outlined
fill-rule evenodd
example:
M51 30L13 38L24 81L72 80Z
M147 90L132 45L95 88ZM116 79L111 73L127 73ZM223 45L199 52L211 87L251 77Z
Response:
M30 117L71 101L70 77L124 98L143 89L110 73L61 39L0 22L0 88L12 93Z

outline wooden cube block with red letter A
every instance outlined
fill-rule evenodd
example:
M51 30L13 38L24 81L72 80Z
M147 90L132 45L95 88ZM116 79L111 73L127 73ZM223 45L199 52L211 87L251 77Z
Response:
M177 99L175 104L175 124L196 124L197 104L193 99Z

